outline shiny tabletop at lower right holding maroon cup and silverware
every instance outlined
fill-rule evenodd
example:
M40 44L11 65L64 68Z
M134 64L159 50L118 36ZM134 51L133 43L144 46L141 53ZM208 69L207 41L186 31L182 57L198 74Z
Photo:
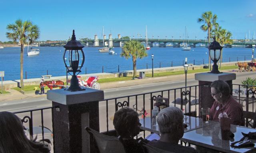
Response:
M184 133L180 140L226 153L246 153L256 151L254 147L235 148L230 146L232 142L242 139L243 135L241 132L256 132L256 129L231 125L230 131L234 133L234 139L222 140L220 124L218 123L213 124L212 126L205 126L195 130L190 130ZM256 140L251 141L256 145Z

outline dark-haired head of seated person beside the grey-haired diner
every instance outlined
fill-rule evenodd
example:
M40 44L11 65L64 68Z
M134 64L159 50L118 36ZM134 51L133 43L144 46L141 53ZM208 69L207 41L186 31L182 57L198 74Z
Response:
M138 113L132 108L124 107L116 111L113 124L116 132L123 138L133 138L140 133Z

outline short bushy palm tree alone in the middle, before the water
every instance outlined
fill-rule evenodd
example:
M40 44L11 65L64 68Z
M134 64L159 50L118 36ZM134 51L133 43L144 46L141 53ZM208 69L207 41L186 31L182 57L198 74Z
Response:
M143 57L147 57L147 51L139 41L132 40L126 41L124 47L122 49L121 57L125 57L126 59L132 57L133 63L133 78L136 77L136 61L137 58L142 59Z

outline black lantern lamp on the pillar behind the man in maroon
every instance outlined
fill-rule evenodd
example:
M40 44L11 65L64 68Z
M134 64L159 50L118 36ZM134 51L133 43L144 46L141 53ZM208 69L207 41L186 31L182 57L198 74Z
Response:
M217 65L217 62L220 59L220 53L221 53L222 47L220 46L220 43L216 41L215 36L214 36L214 41L210 43L210 45L208 46L208 49L209 49L210 58L213 61L212 71L210 73L214 73L214 74L222 73L218 70L218 65Z

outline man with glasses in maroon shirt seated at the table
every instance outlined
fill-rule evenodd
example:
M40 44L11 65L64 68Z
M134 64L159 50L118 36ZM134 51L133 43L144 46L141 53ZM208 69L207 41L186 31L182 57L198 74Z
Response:
M244 126L243 108L230 96L228 83L216 80L210 86L212 97L215 100L210 108L210 120L219 121L219 116L228 116L231 118L231 124Z

